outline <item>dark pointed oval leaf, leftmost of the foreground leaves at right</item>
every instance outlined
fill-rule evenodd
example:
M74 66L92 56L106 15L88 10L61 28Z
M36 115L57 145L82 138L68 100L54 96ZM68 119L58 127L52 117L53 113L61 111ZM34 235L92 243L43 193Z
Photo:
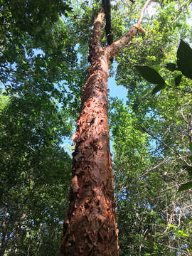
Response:
M144 65L143 66L137 65L135 68L137 68L137 71L148 82L151 82L156 85L165 85L164 78L162 78L161 75L159 75L159 73L157 73L156 70L154 70L153 68L149 68L148 66L144 66Z

